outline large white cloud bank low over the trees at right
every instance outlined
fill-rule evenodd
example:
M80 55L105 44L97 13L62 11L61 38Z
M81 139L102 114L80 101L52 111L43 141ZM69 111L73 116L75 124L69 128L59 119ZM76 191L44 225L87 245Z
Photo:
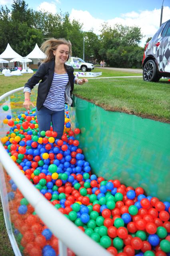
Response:
M141 32L144 35L140 45L143 47L146 39L152 37L159 28L160 25L160 9L154 9L152 11L140 11L140 12L127 12L121 14L121 17L113 18L110 20L102 20L94 18L88 11L75 10L72 9L70 14L70 19L79 20L84 24L83 30L88 31L91 28L94 29L94 33L100 34L101 24L108 22L110 26L119 23L127 26L139 26ZM170 8L168 6L164 7L162 15L162 23L170 18Z

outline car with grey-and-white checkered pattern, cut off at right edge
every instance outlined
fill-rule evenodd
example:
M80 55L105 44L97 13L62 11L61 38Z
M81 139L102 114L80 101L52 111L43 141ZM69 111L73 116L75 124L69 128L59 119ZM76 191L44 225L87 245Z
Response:
M164 22L146 44L142 61L144 81L170 77L170 20Z

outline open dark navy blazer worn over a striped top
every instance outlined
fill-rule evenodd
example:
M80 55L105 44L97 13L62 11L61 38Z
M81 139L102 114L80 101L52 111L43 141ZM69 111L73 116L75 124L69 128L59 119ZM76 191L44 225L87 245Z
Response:
M30 88L33 89L33 87L39 83L38 85L38 95L37 95L37 102L36 102L36 107L37 110L40 110L42 108L43 103L48 95L48 92L50 90L52 80L54 77L54 66L55 66L55 60L42 63L36 73L28 79L27 83L25 84L24 88ZM68 85L66 85L66 91L65 91L65 100L66 103L68 103L70 106L72 106L72 91L74 89L74 69L71 66L68 66L64 64L66 71L68 73Z

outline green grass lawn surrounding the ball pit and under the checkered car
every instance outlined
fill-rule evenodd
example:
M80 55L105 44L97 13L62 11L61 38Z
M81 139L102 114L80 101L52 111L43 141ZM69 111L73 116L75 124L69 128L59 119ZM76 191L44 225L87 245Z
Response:
M94 69L102 71L102 77L136 76L141 74ZM32 74L5 77L0 75L0 94L24 86ZM74 94L80 98L94 102L106 110L123 111L130 114L142 115L163 122L170 122L170 82L161 79L159 83L147 83L142 78L107 78L89 79L82 86L75 85ZM8 240L2 205L0 203L0 255L13 256Z

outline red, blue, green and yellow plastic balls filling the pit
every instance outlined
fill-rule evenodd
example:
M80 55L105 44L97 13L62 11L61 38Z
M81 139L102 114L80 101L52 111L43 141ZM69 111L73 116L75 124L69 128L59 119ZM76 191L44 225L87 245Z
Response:
M78 228L112 255L170 255L170 203L146 197L141 187L92 174L78 148L80 129L71 130L67 106L61 140L52 128L39 137L35 109L11 118L7 115L3 121L11 127L1 140L4 148L40 193ZM15 205L14 234L23 254L58 255L57 238L7 178L9 205Z

